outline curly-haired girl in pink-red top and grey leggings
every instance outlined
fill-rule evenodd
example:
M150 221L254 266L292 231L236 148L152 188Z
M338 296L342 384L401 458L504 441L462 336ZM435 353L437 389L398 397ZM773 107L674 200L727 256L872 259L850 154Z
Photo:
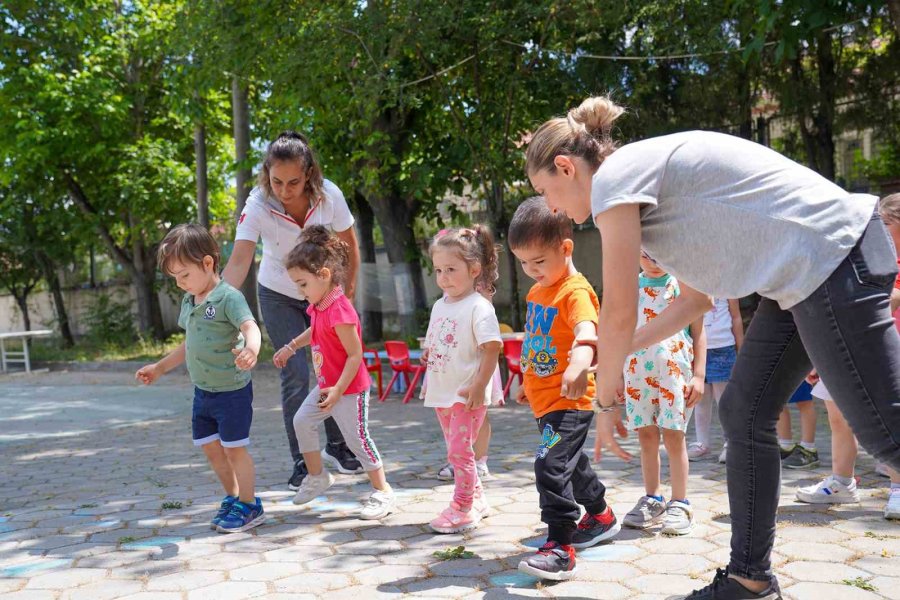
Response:
M393 511L394 493L369 436L372 383L362 356L359 315L341 287L349 263L347 244L325 227L303 229L284 266L297 290L309 301L310 326L278 350L273 362L283 368L297 350L310 346L316 373L316 386L294 415L300 452L309 469L294 504L312 502L334 484L334 476L322 466L319 451L319 423L332 417L372 482L373 491L363 503L359 518L380 519Z

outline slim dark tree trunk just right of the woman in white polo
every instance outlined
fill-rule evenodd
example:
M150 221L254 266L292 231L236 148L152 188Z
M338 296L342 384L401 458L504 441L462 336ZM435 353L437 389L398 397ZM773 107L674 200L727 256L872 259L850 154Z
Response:
M384 318L381 289L375 255L375 213L365 197L357 191L353 195L356 208L356 233L362 263L356 286L356 299L362 305L363 338L367 342L384 338Z

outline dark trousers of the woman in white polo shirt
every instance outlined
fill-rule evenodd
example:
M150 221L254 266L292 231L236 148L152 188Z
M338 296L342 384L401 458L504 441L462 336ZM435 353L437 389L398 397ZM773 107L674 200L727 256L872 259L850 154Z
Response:
M309 327L309 315L306 314L307 302L279 294L267 287L259 286L259 308L262 311L266 332L278 350ZM294 432L294 415L309 394L309 365L306 362L306 350L300 350L281 369L281 412L284 417L284 429L287 432L291 457L294 462L301 460L297 434ZM347 444L334 419L325 420L325 437L328 440L328 452L333 456L347 454Z

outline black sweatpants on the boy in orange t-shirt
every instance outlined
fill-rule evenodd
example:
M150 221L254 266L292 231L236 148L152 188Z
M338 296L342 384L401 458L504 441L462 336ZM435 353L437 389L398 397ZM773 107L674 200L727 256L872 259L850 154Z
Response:
M541 521L547 540L572 543L580 504L591 514L606 510L606 488L582 452L594 413L558 410L537 420L541 444L534 457L534 475L541 496Z

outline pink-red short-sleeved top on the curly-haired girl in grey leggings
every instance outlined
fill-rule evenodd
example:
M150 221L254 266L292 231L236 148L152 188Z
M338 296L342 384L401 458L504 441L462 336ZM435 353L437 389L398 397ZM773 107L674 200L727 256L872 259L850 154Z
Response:
M347 362L347 351L344 350L344 345L341 344L334 327L344 324L355 325L356 335L362 340L359 316L340 287L334 288L318 303L311 304L306 309L306 313L310 316L310 328L312 329L310 348L312 349L316 381L319 389L332 387L341 378L344 364ZM371 385L366 365L361 362L356 376L347 386L344 394L365 392Z

